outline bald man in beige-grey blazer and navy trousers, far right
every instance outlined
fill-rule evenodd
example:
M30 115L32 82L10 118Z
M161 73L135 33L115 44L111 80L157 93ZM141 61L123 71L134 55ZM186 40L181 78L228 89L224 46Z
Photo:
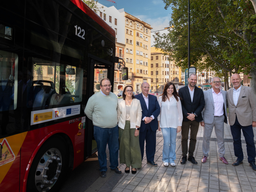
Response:
M251 87L241 85L241 77L238 74L231 76L234 88L227 91L228 94L228 123L233 137L233 145L237 166L243 163L244 154L241 143L241 129L246 142L249 165L256 171L255 144L252 127L256 127L256 97Z

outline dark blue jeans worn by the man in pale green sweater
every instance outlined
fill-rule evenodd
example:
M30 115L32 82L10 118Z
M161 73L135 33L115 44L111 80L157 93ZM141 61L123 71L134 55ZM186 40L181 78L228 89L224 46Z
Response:
M113 128L101 128L93 126L94 138L97 142L98 160L100 164L100 172L107 171L107 154L106 148L108 143L109 150L109 167L115 169L118 166L118 126Z

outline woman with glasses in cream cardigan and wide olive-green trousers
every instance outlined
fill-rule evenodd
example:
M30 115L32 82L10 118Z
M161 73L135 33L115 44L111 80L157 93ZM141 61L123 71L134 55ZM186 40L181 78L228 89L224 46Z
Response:
M125 172L132 174L141 168L139 130L142 116L140 101L132 94L132 86L124 87L123 100L118 101L117 121L119 128L120 164L126 164Z

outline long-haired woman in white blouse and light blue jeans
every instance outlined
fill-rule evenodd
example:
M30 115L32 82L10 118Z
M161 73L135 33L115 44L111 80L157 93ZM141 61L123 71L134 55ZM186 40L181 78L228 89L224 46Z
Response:
M158 131L162 129L164 138L162 160L165 167L168 167L169 163L172 167L175 167L176 136L181 131L183 116L180 97L172 82L165 84L163 94L160 95L158 103L161 107L160 114L157 117Z

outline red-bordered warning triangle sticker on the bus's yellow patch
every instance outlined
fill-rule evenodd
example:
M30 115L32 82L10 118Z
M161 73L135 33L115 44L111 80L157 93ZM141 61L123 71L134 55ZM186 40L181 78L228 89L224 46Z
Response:
M12 152L8 141L4 138L2 143L0 143L0 166L11 161L14 161L15 155Z

